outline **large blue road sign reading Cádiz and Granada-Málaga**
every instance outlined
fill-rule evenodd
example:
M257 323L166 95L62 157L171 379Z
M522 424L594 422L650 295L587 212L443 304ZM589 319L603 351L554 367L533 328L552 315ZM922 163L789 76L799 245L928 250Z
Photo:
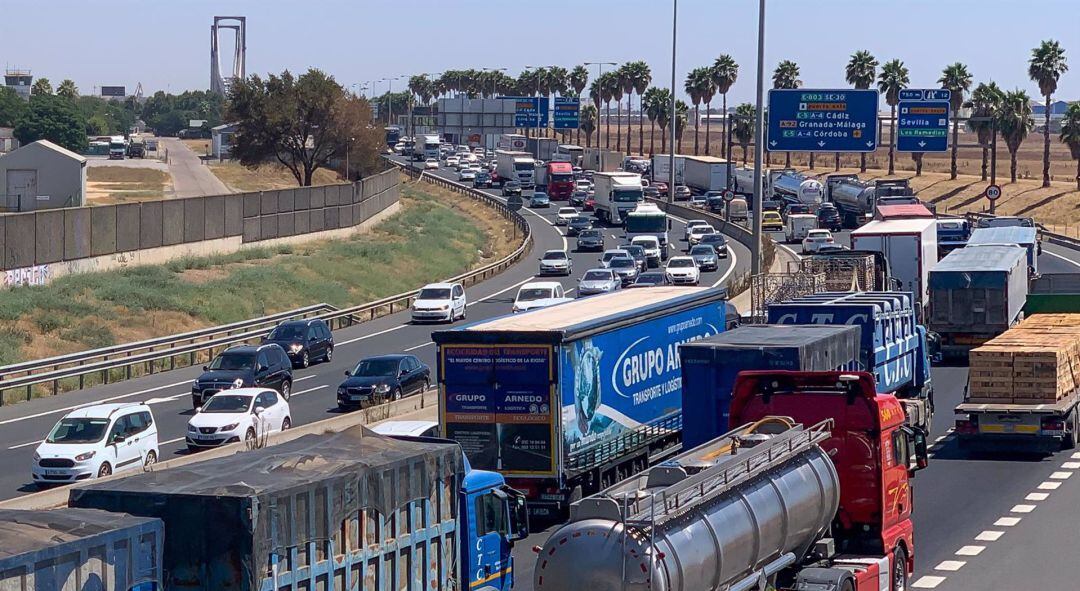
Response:
M769 91L766 149L774 152L872 152L877 148L878 92Z

